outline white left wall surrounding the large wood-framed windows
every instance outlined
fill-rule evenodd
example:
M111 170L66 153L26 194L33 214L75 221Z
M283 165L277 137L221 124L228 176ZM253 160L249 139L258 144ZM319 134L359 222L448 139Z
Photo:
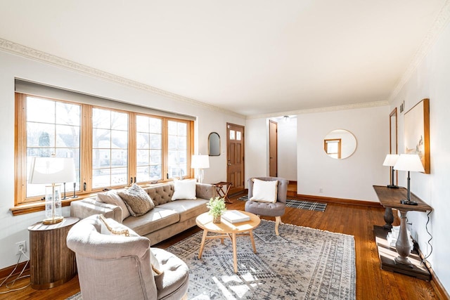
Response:
M104 98L121 100L159 110L198 117L195 124L195 152L207 153L207 138L211 131L221 136L223 154L210 157L210 169L205 170L205 182L226 181L226 122L245 125L245 119L227 115L208 107L174 100L143 89L135 89L96 77L73 72L46 63L0 51L0 268L13 266L17 261L15 242L26 240L27 227L44 219L44 211L12 216L14 206L14 78L23 78L73 91L82 91ZM68 216L69 208L63 208ZM29 248L29 246L28 246Z

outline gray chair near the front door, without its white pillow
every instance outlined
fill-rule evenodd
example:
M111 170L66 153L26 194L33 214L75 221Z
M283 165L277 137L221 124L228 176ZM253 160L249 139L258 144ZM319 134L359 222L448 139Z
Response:
M253 181L256 178L262 181L278 181L277 199L275 203L250 201L253 195ZM278 226L283 224L281 216L283 216L286 207L286 197L288 195L289 181L281 177L252 177L248 179L248 201L245 203L245 211L257 214L258 216L274 216L275 217L275 233L278 233Z

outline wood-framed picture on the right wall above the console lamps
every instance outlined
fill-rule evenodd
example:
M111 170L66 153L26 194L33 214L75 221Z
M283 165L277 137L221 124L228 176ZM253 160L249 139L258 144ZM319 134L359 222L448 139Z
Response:
M405 153L418 154L430 174L430 99L423 99L405 113Z

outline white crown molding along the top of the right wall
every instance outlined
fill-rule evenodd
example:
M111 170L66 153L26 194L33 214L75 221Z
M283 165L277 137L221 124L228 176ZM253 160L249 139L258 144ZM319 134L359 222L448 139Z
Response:
M449 21L450 21L450 1L447 0L444 6L442 6L441 11L439 11L439 14L437 15L435 22L428 31L428 34L425 36L425 39L423 40L422 44L420 44L418 51L416 51L416 54L411 60L411 63L409 63L409 67L406 69L404 74L400 77L399 81L397 82L394 91L392 91L390 97L388 98L389 103L392 103L394 101L394 98L397 97L397 95L400 93L401 89L403 89L406 82L408 82L409 79L411 79L411 76L416 71L417 67L420 65L420 63L422 63L425 56L428 55L432 46L435 45L435 42L444 31L446 25L449 24Z

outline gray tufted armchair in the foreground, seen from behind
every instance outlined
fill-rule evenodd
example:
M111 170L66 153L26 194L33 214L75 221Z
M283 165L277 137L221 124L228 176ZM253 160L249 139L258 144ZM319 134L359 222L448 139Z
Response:
M151 248L162 274L153 275L150 240L129 230L124 235L101 233L98 215L73 226L67 244L77 258L83 300L187 299L188 266L163 249ZM127 228L113 219L108 223ZM113 227L112 226L112 227Z

